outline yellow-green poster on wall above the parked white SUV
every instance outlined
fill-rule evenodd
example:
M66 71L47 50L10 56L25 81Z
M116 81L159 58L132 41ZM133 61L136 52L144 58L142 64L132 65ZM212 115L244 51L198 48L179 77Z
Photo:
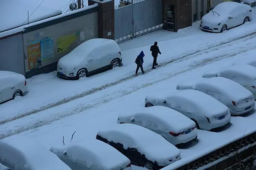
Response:
M69 52L76 48L78 42L80 41L80 31L74 34L64 35L57 38L57 48L58 53Z

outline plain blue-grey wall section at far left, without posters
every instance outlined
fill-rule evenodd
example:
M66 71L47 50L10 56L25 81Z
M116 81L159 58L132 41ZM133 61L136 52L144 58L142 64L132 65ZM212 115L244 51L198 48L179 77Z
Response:
M25 74L22 33L0 39L0 70Z

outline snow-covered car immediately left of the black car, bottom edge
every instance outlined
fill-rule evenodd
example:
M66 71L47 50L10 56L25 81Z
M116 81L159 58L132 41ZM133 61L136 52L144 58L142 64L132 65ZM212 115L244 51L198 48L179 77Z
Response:
M52 146L50 151L72 170L131 170L126 156L96 139Z

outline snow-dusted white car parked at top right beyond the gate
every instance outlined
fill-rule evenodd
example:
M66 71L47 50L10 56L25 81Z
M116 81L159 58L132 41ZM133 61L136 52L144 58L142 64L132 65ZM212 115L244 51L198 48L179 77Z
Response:
M252 20L252 8L243 3L223 2L205 14L200 29L211 32L223 32Z

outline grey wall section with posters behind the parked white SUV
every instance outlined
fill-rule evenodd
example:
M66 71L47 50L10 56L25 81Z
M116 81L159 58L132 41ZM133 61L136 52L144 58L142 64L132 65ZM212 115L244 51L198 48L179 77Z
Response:
M98 37L98 9L87 10L81 11L87 14L78 12L58 19L60 21L32 26L25 30L23 48L26 77L55 71L58 59L82 42ZM38 56L41 58L41 65L36 62Z

